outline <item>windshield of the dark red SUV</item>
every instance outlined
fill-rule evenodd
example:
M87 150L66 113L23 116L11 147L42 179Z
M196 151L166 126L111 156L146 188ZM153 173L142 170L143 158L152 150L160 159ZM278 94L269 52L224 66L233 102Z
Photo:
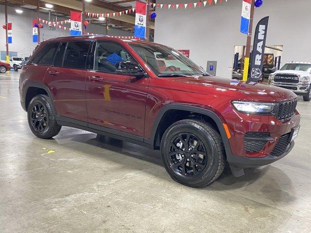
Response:
M158 77L209 75L180 52L161 45L129 44Z

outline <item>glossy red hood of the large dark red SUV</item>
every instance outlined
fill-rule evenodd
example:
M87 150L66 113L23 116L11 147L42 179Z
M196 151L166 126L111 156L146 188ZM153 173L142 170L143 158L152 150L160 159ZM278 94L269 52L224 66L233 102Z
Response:
M167 78L165 78L167 79ZM242 82L215 76L169 78L171 88L206 95L230 96L231 100L282 102L297 98L291 90L254 82Z

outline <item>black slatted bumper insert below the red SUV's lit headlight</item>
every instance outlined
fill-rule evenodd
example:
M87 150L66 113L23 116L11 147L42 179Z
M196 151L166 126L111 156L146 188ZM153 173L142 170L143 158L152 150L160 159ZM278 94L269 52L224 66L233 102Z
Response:
M266 145L267 140L260 140L269 137L269 133L245 133L244 147L246 153L259 152Z

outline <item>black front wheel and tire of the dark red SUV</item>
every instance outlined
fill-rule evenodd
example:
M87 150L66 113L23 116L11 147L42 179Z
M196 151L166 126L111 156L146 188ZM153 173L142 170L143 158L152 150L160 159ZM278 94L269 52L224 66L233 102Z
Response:
M178 183L203 187L224 170L225 149L220 134L204 121L175 122L161 140L165 169Z

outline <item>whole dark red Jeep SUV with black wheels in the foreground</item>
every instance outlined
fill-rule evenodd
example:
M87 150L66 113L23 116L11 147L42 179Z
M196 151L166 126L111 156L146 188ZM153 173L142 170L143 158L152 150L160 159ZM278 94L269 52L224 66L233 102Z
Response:
M109 36L40 43L19 90L37 137L64 125L159 149L171 177L192 187L226 162L240 176L284 157L299 130L290 90L212 77L167 46Z

